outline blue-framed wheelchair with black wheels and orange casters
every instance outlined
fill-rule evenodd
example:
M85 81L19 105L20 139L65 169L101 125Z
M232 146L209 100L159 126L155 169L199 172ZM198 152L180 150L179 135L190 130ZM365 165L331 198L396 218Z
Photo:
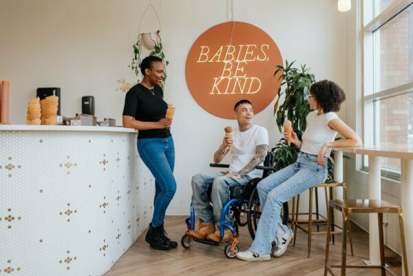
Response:
M256 169L262 169L263 176L266 178L271 173L273 173L273 153L268 151L266 158L264 160L264 166L257 166ZM228 168L229 164L215 164L211 163L210 167L218 168ZM255 231L257 230L258 221L260 220L261 209L260 209L260 198L257 192L257 184L262 180L262 178L253 178L246 185L238 185L231 187L230 189L230 200L224 204L221 213L221 222L220 222L220 242L210 242L208 240L198 240L186 232L181 238L181 245L184 248L190 248L193 245L193 242L200 242L202 244L209 244L213 246L220 246L222 244L222 238L224 237L224 230L229 229L233 234L233 241L226 244L224 248L224 254L226 257L233 259L237 256L238 253L238 228L239 226L248 226L248 232L251 235L251 238L254 240ZM207 194L211 195L212 185L209 187ZM211 198L209 196L209 198ZM195 211L193 209L193 204L191 203L190 207L191 216L185 219L188 230L195 229ZM230 211L233 217L233 226L225 222L226 213ZM242 218L242 213L246 218ZM282 211L282 222L284 224L288 223L288 202L284 202L283 211Z

